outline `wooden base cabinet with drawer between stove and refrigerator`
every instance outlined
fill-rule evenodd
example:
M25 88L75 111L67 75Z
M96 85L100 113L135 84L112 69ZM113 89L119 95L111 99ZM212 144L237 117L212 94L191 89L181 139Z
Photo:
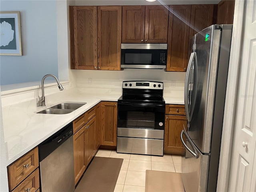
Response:
M180 140L180 133L183 125L187 128L184 105L166 105L165 117L164 153L182 155L185 148Z

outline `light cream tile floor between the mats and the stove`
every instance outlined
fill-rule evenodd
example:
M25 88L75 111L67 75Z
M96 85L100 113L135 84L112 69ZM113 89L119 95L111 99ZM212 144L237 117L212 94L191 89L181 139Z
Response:
M181 156L148 156L116 153L114 150L99 150L97 157L124 159L114 192L144 192L146 170L180 173Z

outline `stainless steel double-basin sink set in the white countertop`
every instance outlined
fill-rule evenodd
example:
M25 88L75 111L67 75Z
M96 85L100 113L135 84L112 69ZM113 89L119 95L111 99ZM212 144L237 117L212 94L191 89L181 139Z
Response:
M68 114L73 112L74 110L82 107L85 105L86 102L77 102L77 103L72 103L72 102L66 102L66 103L60 103L56 104L50 108L44 109L40 112L40 114Z

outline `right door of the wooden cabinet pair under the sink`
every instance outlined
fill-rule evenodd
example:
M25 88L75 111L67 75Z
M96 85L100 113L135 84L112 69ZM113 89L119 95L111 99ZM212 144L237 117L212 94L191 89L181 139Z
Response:
M92 160L95 150L94 150L94 134L95 134L95 128L96 128L96 117L92 118L87 124L86 124L86 142L85 142L85 148L86 148L86 165L90 163Z

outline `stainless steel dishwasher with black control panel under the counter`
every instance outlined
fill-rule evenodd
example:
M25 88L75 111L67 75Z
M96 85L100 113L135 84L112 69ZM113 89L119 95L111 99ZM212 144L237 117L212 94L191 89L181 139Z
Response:
M38 149L42 192L74 192L73 124L50 136Z

